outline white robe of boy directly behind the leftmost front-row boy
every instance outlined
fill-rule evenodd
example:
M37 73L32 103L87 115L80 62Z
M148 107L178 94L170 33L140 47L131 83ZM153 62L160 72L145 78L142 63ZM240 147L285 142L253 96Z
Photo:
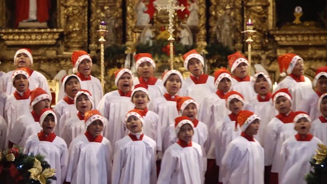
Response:
M8 132L8 141L24 148L26 140L33 134L40 132L42 127L36 122L31 113L18 117L11 131Z

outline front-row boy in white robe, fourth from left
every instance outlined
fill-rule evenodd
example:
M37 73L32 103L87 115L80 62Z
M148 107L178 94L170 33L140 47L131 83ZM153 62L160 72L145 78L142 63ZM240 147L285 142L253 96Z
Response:
M203 148L192 141L193 127L188 117L175 119L178 141L171 145L162 157L158 184L204 183L206 156Z

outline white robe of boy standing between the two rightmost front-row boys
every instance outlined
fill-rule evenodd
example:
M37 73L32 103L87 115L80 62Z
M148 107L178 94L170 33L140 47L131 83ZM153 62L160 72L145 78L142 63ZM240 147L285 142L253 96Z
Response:
M278 118L273 118L268 123L264 137L265 166L272 166L271 172L281 171L283 163L279 153L281 153L283 142L296 133L294 123L283 123Z

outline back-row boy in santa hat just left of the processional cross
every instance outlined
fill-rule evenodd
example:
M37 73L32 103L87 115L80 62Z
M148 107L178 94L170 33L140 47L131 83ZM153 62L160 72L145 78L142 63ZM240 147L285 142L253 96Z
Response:
M134 78L134 85L142 83L149 87L149 98L156 99L164 94L165 88L162 81L153 76L155 70L155 62L149 53L139 53L134 56L135 69L137 77Z

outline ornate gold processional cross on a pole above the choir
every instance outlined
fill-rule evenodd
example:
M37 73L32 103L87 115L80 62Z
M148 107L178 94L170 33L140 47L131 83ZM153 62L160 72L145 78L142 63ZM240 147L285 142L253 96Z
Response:
M174 69L174 38L173 38L173 32L174 30L174 25L173 25L173 19L174 19L174 12L176 10L181 10L183 11L185 9L184 5L180 5L180 6L175 6L173 3L173 0L168 0L168 4L167 6L161 6L158 5L156 7L156 9L158 10L158 12L160 12L160 10L166 10L168 12L168 16L169 16L169 27L168 27L168 32L170 34L168 41L169 41L169 45L170 45L170 70Z

